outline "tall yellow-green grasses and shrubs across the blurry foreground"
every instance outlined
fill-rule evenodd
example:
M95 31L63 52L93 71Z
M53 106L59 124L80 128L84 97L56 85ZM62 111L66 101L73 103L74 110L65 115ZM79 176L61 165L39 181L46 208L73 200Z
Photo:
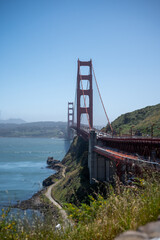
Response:
M46 218L18 220L0 217L0 239L114 239L119 233L136 229L160 214L160 176L152 174L139 186L127 187L117 183L115 189L108 186L108 194L89 196L89 204L79 207L67 204L69 217L75 222L71 228L55 230L55 223ZM148 191L149 189L149 191Z

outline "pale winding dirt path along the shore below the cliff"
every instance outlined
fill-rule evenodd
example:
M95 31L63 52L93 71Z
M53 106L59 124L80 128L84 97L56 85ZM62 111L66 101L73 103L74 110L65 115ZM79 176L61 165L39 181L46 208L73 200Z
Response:
M66 167L64 167L64 168L62 169L62 177L63 177L63 178L65 178L65 172L66 172ZM60 179L59 181L61 181L61 179ZM61 206L58 202L56 202L56 201L52 198L52 195L51 195L52 188L55 187L55 186L59 183L59 181L57 181L56 183L50 185L50 186L47 188L47 191L46 191L46 193L45 193L45 196L59 209L60 214L61 214L61 216L62 216L62 219L63 219L63 221L64 221L64 225L65 225L65 226L72 226L73 223L71 222L70 219L68 219L68 216L67 216L66 211L62 208L62 206Z

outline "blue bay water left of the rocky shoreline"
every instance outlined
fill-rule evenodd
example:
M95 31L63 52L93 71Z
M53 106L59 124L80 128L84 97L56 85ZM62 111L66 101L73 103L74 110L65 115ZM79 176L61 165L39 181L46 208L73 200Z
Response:
M62 160L70 142L49 138L0 138L0 208L30 198L55 171L47 158Z

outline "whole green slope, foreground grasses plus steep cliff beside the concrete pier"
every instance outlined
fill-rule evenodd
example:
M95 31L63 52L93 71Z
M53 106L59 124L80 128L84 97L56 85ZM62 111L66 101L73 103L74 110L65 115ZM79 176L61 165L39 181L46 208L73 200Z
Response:
M64 179L53 189L53 197L63 204L73 226L56 228L55 218L14 216L3 210L0 216L0 239L7 240L110 240L128 229L156 220L160 214L160 175L143 174L133 186L124 186L118 179L114 188L103 184L91 186L88 180L88 146L76 137L62 163ZM59 179L55 174L45 180L52 184ZM99 188L98 188L99 187ZM48 200L47 200L48 201ZM67 203L67 204L66 204Z

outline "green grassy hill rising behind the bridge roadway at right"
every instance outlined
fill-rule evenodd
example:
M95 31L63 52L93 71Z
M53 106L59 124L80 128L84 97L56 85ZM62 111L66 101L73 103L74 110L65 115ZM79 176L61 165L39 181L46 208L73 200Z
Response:
M111 125L117 134L119 129L121 134L130 134L131 127L134 126L133 134L142 134L142 136L150 136L153 125L153 136L160 137L160 104L122 114ZM110 131L108 125L107 131Z

